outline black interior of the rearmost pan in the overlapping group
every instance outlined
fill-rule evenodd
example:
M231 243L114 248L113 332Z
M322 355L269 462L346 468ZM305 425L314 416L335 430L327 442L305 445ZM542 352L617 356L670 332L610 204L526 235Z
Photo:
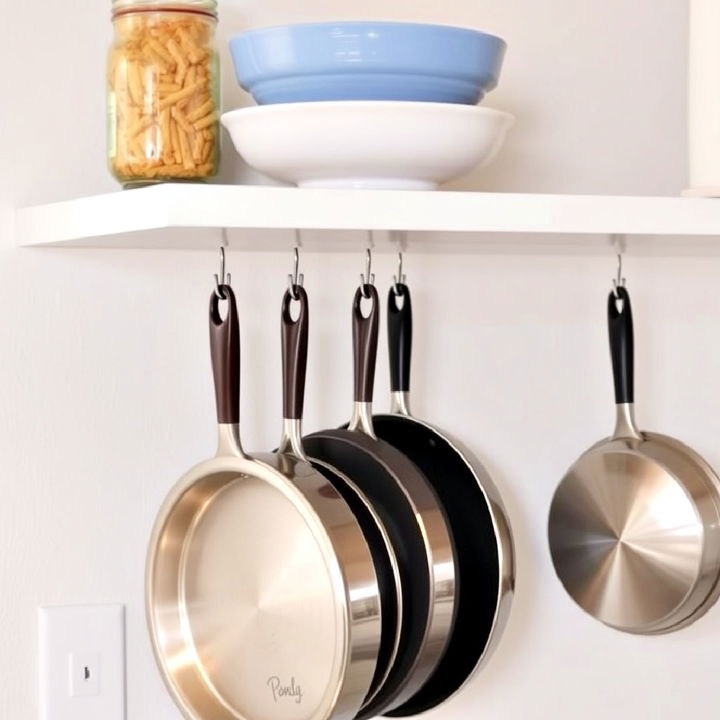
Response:
M423 471L442 503L455 543L459 592L445 654L425 685L388 715L405 717L450 697L480 662L500 602L500 547L481 478L440 433L411 418L373 417L375 431Z

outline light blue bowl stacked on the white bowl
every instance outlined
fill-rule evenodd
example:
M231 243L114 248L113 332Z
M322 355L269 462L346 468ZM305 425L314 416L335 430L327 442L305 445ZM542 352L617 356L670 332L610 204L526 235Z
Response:
M505 41L444 25L336 22L250 30L230 40L259 105L408 100L475 105L498 83Z

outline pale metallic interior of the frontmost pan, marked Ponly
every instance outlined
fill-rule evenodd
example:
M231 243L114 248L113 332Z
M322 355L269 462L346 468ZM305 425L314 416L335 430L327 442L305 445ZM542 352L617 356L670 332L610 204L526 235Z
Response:
M153 620L196 717L325 716L347 643L334 573L282 483L218 473L184 493L158 543Z

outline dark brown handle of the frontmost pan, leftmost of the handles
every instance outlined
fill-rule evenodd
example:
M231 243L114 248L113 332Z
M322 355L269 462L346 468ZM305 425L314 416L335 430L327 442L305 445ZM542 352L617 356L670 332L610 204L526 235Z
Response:
M240 422L240 324L235 294L229 285L218 292L227 302L227 315L220 315L220 298L210 296L210 357L215 379L218 423Z

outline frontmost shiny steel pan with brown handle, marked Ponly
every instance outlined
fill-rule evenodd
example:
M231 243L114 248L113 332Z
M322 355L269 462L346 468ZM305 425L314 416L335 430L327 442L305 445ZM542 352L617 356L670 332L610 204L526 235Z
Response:
M235 298L210 300L219 444L158 515L147 562L155 656L189 720L351 720L371 685L381 606L352 511L292 453L239 439Z

